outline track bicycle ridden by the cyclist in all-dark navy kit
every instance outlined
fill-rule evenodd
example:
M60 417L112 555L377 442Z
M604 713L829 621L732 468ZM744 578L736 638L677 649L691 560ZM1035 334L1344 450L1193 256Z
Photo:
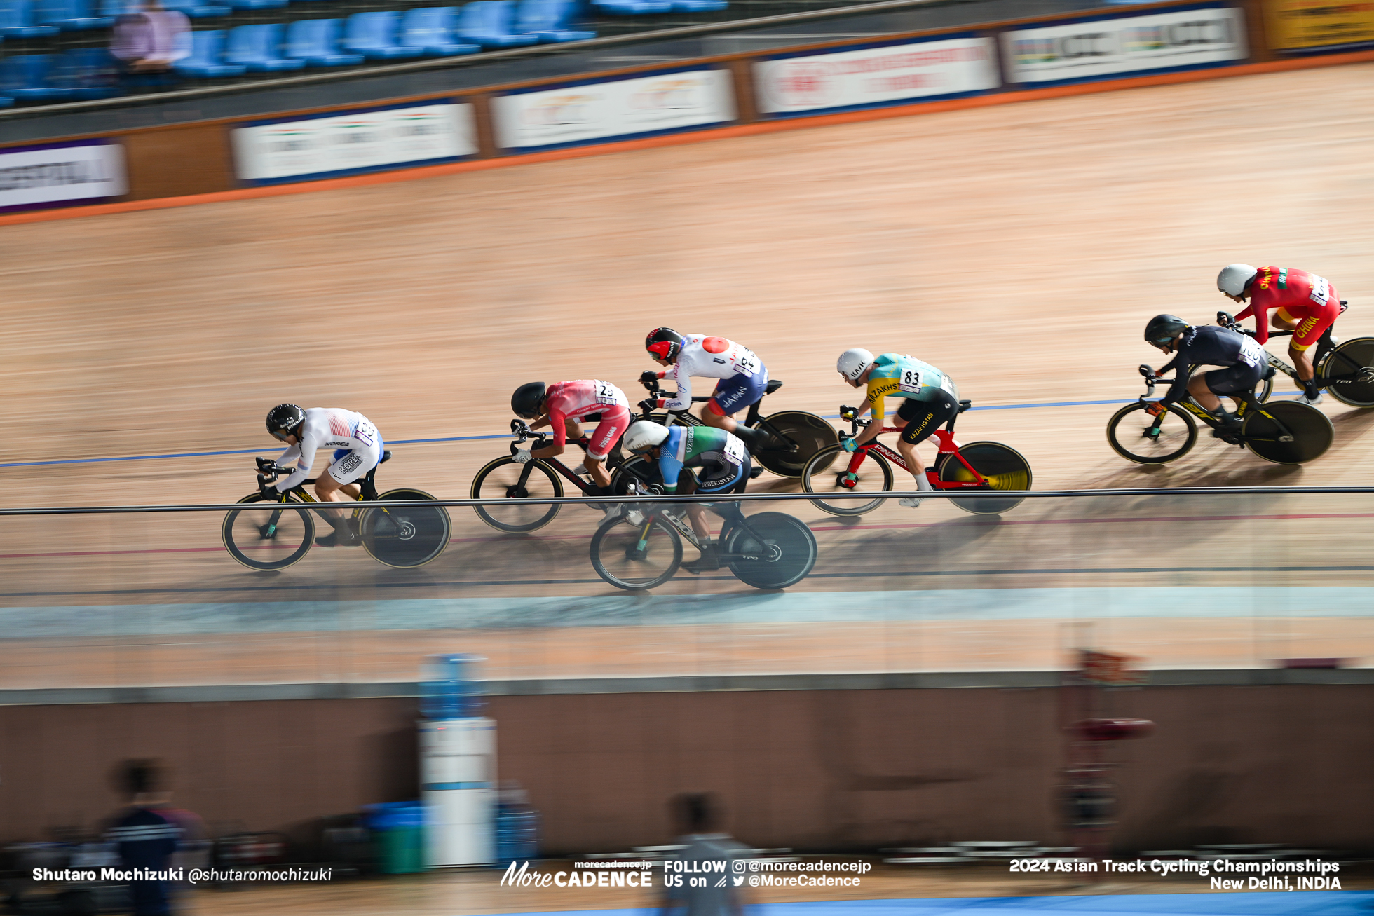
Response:
M1140 375L1146 393L1107 420L1107 444L1138 464L1165 464L1187 455L1198 439L1193 417L1212 427L1223 442L1248 448L1275 464L1305 464L1320 457L1336 438L1331 420L1315 407L1297 401L1260 404L1253 391L1221 396L1239 400L1238 424L1223 423L1193 398L1161 409L1150 396L1156 385L1171 379L1161 379L1149 365L1140 365Z

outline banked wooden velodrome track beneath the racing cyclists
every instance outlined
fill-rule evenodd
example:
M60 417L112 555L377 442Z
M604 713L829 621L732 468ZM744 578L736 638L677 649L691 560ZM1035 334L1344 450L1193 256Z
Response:
M1209 321L1227 262L1322 273L1352 302L1337 332L1374 332L1371 76L1249 76L4 227L4 504L232 501L251 489L249 455L44 461L271 455L261 417L286 400L361 411L394 444L499 434L511 389L536 378L603 378L633 398L660 324L754 347L786 383L775 409L852 401L833 371L848 346L914 353L999 408L966 413L960 439L1020 449L1036 489L1367 485L1374 411L1330 398L1336 445L1300 468L1209 438L1143 468L1110 452L1103 423L1140 393L1136 364L1157 361L1146 319ZM394 450L385 485L464 497L504 444ZM1164 667L1374 656L1358 610L1369 497L1039 500L1000 523L933 503L859 525L789 511L815 523L822 555L772 599L686 573L622 597L592 574L592 515L576 508L537 537L455 509L455 544L422 570L315 551L271 578L218 549L217 516L10 518L0 687L408 680L440 650L488 655L492 677L1052 667L1084 640ZM883 610L912 591L925 610ZM1037 595L1062 610L998 612L999 596ZM445 619L400 607L412 599L491 600ZM758 604L783 599L809 603Z

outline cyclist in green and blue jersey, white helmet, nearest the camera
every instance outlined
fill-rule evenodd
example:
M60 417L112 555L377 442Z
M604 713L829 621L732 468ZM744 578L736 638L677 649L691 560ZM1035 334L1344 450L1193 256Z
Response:
M636 420L625 431L625 449L658 466L665 493L742 493L749 483L749 450L732 433L712 426L666 427ZM688 468L699 468L692 474ZM691 529L701 541L701 559L683 563L688 573L720 569L720 551L710 540L706 511L687 505Z

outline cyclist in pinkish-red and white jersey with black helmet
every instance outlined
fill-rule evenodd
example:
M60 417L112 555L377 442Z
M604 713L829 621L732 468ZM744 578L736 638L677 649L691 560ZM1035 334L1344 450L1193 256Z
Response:
M624 391L610 382L598 379L555 382L547 387L543 382L529 382L515 389L515 394L511 396L511 409L526 420L534 420L530 424L532 430L547 426L554 431L552 444L544 448L517 449L514 457L521 464L530 459L562 455L569 437L583 435L578 420L596 422L581 470L585 470L602 490L610 486L606 456L629 426L629 398Z

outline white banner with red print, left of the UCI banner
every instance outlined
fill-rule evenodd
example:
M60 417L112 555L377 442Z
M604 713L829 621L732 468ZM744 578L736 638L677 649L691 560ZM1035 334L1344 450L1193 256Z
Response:
M970 95L996 89L1000 82L993 41L977 36L754 63L758 111L775 117Z

